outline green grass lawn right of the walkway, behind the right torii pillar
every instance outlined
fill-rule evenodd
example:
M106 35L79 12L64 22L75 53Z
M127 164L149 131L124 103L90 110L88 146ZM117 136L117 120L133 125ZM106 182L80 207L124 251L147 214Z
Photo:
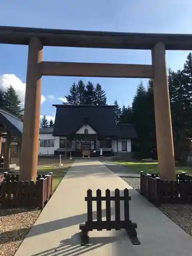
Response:
M158 173L158 162L154 161L154 162L116 162L117 164L120 164L120 165L125 165L127 166L127 172L129 172L129 169L136 172L136 173L139 173L141 172L141 170L144 172L144 173L149 173L149 174L152 174L152 173ZM192 166L177 166L176 167L176 172L177 173L182 173L182 172L185 172L187 174L192 174Z

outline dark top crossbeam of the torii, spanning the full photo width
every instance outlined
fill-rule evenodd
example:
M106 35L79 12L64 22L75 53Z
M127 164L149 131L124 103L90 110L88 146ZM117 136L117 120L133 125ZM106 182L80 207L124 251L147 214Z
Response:
M29 45L37 37L44 46L151 50L191 50L191 34L124 33L0 26L0 44Z

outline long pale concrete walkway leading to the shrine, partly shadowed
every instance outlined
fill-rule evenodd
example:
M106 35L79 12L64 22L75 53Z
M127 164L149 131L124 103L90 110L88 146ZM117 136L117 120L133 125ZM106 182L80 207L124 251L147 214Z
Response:
M141 245L133 245L124 230L103 230L91 231L91 245L80 246L79 224L87 220L87 189L125 187L132 196L130 216L138 224ZM191 251L191 237L125 181L99 161L80 159L73 163L15 256L191 256Z

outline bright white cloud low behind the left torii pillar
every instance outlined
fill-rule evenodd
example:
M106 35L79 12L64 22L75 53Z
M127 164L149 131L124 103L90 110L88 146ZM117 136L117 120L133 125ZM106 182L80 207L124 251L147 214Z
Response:
M24 103L26 83L22 82L22 80L20 80L14 74L4 74L0 76L0 88L3 91L6 91L10 85L15 89L22 103ZM45 101L46 101L46 97L44 95L41 95L41 104L44 103Z

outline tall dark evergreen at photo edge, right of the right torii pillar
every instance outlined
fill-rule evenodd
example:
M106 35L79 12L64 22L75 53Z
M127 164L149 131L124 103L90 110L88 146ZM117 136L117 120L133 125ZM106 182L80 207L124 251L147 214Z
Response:
M171 98L175 157L185 158L186 143L192 134L192 55L188 54L183 70L172 72ZM169 86L170 88L170 86Z

